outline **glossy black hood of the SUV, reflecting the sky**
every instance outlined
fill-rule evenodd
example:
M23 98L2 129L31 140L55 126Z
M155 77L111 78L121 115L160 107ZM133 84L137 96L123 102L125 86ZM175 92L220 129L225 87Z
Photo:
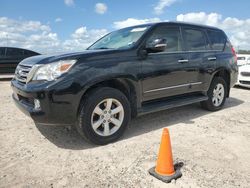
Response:
M34 64L48 64L55 61L67 59L80 59L85 57L94 56L96 58L103 57L106 54L115 53L118 50L105 49L105 50L85 50L83 52L75 53L56 53L47 55L37 55L24 59L20 65L32 66Z

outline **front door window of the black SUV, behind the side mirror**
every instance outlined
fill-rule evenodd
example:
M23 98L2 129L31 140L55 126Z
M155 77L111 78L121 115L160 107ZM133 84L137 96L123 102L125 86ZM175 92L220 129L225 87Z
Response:
M154 30L153 34L149 37L147 43L153 42L155 39L166 39L167 47L166 52L181 51L181 34L179 27L163 26Z

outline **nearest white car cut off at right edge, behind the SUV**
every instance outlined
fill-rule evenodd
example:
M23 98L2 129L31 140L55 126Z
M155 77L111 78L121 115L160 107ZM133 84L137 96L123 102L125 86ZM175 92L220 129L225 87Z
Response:
M239 67L238 82L236 85L250 88L250 64Z

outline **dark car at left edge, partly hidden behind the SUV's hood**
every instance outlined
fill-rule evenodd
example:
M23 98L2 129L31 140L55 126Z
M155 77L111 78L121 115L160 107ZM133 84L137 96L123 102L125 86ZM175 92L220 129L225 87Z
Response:
M0 47L0 74L15 73L18 63L27 57L35 55L40 54L22 48Z

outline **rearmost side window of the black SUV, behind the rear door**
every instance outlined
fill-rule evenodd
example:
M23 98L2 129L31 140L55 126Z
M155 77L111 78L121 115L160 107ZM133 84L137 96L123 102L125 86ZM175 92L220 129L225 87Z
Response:
M226 38L222 32L208 30L207 34L214 50L224 49Z

